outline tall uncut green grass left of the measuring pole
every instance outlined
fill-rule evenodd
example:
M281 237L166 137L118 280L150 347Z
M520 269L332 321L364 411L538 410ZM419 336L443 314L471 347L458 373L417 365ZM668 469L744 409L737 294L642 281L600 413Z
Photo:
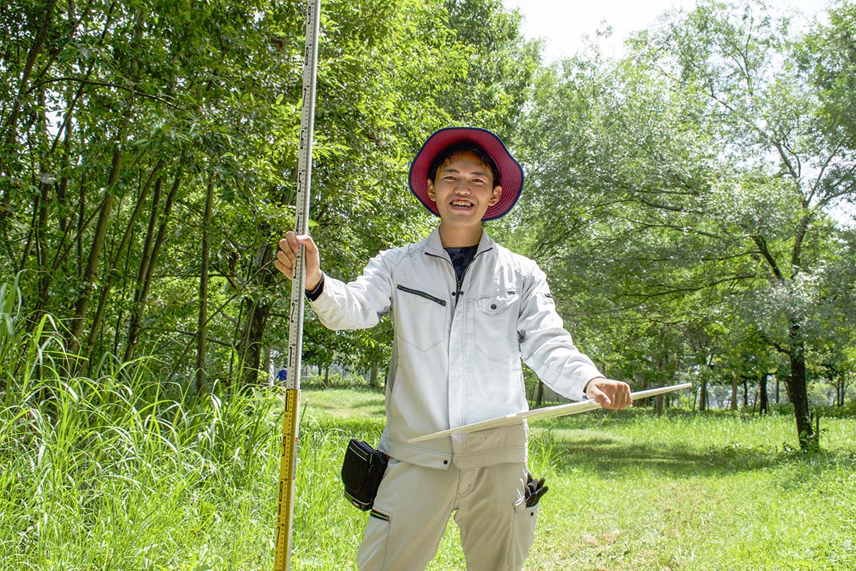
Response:
M189 394L151 358L74 375L61 324L21 306L0 285L3 568L262 568L276 396Z

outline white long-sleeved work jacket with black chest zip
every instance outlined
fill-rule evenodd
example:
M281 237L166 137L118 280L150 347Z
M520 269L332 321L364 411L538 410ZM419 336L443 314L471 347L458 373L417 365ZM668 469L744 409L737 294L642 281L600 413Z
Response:
M310 305L332 330L365 329L391 316L395 340L378 448L419 466L526 461L526 424L407 443L526 410L521 358L575 401L600 375L564 330L544 272L484 232L460 284L434 230L377 254L354 282L325 276Z

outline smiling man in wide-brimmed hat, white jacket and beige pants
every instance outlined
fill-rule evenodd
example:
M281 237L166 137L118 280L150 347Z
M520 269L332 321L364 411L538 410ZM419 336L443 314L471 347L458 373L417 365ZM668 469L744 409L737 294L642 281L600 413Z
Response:
M520 164L496 134L441 129L416 155L409 182L439 227L377 254L356 281L324 276L308 235L289 232L276 260L292 277L294 253L306 247L306 294L330 329L392 319L378 445L389 466L357 564L363 571L425 569L454 512L470 571L520 569L538 515L537 505L526 505L528 427L408 439L526 410L521 358L574 400L585 392L618 409L631 404L630 389L604 378L574 346L538 265L482 230L484 220L514 206L523 185Z

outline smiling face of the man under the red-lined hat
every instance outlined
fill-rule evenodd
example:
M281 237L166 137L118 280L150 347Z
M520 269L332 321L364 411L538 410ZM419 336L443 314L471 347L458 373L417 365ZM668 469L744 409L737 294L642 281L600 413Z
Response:
M437 169L428 180L428 197L437 203L440 220L455 225L481 224L484 212L502 196L493 174L475 155L463 153Z

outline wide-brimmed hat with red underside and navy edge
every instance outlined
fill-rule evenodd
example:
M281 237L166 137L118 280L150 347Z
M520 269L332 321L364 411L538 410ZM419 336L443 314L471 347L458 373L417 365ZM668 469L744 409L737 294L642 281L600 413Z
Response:
M438 154L447 147L469 141L481 147L484 152L493 158L496 168L499 170L499 184L502 186L502 196L495 205L490 206L482 220L493 220L505 216L512 206L520 198L523 189L523 169L520 163L514 160L502 140L487 129L475 127L449 127L443 128L432 134L425 141L425 145L416 153L413 164L410 166L410 190L416 195L425 208L435 216L440 216L437 211L437 203L428 197L428 169Z

